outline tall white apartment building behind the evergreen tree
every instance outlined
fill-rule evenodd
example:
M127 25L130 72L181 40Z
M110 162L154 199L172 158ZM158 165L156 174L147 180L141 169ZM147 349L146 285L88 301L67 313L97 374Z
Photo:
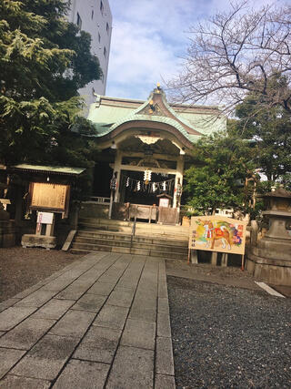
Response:
M112 15L108 0L70 0L69 22L75 23L81 30L92 36L91 52L98 57L103 77L92 81L79 94L85 98L87 107L94 103L93 93L105 95L110 41L112 31ZM87 111L87 110L86 110Z

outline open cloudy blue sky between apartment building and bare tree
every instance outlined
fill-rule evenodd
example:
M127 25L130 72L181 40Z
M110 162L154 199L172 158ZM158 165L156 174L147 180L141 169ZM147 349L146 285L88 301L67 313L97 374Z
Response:
M187 31L226 10L228 0L109 0L113 14L106 95L146 99L163 78L178 73ZM256 0L266 5L268 0Z

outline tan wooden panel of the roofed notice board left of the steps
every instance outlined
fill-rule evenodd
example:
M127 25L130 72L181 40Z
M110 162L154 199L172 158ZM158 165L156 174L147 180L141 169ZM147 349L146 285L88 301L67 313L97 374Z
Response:
M33 182L31 188L32 208L65 210L65 202L69 189L68 185Z

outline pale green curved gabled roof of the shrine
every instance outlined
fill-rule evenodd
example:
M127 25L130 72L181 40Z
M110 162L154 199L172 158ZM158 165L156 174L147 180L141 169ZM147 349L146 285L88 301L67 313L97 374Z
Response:
M170 105L164 91L156 87L146 101L98 96L88 119L95 126L96 138L108 138L125 123L136 126L136 122L148 122L166 124L192 144L203 135L226 128L226 118L220 115L218 107Z

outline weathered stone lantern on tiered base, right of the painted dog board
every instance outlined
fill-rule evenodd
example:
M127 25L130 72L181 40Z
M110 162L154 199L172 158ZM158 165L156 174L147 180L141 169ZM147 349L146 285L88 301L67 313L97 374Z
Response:
M291 192L280 187L262 196L269 220L265 236L251 247L246 269L275 285L291 285Z

